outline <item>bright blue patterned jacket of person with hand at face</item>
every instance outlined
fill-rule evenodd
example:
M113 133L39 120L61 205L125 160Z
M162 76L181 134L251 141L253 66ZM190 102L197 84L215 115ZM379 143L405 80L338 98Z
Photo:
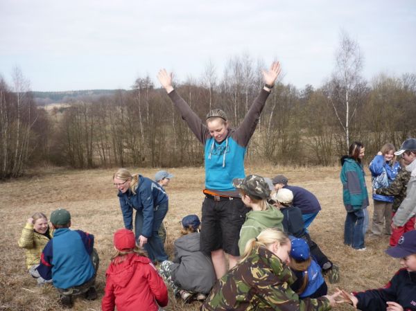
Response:
M374 189L386 188L392 184L400 170L399 162L387 163L383 155L376 155L370 162L371 176L372 176L372 187ZM388 195L380 195L373 193L373 199L376 201L392 203L395 197Z

